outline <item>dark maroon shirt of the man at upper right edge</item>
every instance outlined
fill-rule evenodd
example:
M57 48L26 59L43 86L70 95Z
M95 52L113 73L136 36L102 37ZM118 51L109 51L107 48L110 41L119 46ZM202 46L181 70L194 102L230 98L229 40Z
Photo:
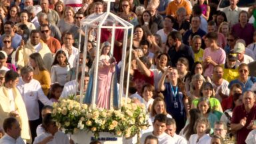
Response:
M235 33L240 39L245 40L246 45L253 43L254 27L251 23L247 23L245 27L241 27L240 23L233 25L232 33Z

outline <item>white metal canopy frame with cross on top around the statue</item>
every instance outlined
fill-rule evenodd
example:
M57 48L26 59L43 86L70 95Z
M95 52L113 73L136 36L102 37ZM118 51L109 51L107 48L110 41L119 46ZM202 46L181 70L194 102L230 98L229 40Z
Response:
M81 79L85 77L85 65L86 65L86 57L87 57L87 41L89 40L89 29L97 29L97 37L96 37L96 47L97 47L97 54L94 59L94 75L93 75L93 89L92 89L92 99L91 99L91 107L95 108L97 105L97 77L99 71L99 56L100 56L100 47L101 47L101 29L111 29L111 54L113 54L114 50L114 43L115 43L115 30L116 29L123 29L124 30L124 37L123 37L123 51L122 51L122 59L121 59L121 72L120 72L120 83L119 83L119 95L118 95L118 102L119 102L119 109L122 105L122 97L123 97L123 83L125 76L127 77L127 87L125 91L125 103L127 103L128 97L128 87L129 87L129 70L131 68L131 51L132 51L132 43L133 43L133 25L121 17L110 12L110 3L114 2L115 0L105 0L107 2L107 11L101 15L95 15L92 18L83 19L81 21L80 30L85 31L85 42L83 47L83 65L82 65L82 76ZM106 25L107 22L111 22L112 25ZM131 33L131 37L129 39L128 35ZM128 71L127 75L125 75L125 60L127 59L127 44L129 40L129 63L128 63ZM81 33L79 35L79 49L81 48ZM78 59L79 61L79 59ZM78 71L78 63L77 61L77 71ZM80 85L80 103L83 103L83 87L84 81L81 81Z

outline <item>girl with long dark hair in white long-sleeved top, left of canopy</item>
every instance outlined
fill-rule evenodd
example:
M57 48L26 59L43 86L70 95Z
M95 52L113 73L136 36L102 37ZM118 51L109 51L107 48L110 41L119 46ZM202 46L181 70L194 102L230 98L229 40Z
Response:
M70 67L66 53L62 50L57 51L51 66L51 83L59 83L61 86L65 85L69 70Z

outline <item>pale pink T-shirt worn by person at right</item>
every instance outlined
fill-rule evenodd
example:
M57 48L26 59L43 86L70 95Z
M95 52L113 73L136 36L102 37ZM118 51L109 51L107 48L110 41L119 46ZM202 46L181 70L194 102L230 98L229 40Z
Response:
M221 47L219 47L219 49L212 51L210 47L206 48L204 53L203 53L203 61L205 61L205 59L207 57L211 57L211 59L217 63L218 65L224 64L225 60L226 60L226 53L223 49L221 49ZM205 77L211 77L211 75L213 74L213 68L214 66L209 63L208 67L205 69L205 73L203 73L203 75Z

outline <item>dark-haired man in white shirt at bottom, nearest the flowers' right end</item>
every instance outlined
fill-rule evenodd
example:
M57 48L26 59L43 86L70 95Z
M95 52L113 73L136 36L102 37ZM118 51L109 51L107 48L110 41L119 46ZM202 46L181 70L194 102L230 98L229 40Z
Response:
M158 114L155 116L153 123L153 131L149 133L143 133L141 136L141 143L145 143L145 138L148 135L157 137L159 144L173 144L175 139L165 133L167 123L167 116L164 114Z

